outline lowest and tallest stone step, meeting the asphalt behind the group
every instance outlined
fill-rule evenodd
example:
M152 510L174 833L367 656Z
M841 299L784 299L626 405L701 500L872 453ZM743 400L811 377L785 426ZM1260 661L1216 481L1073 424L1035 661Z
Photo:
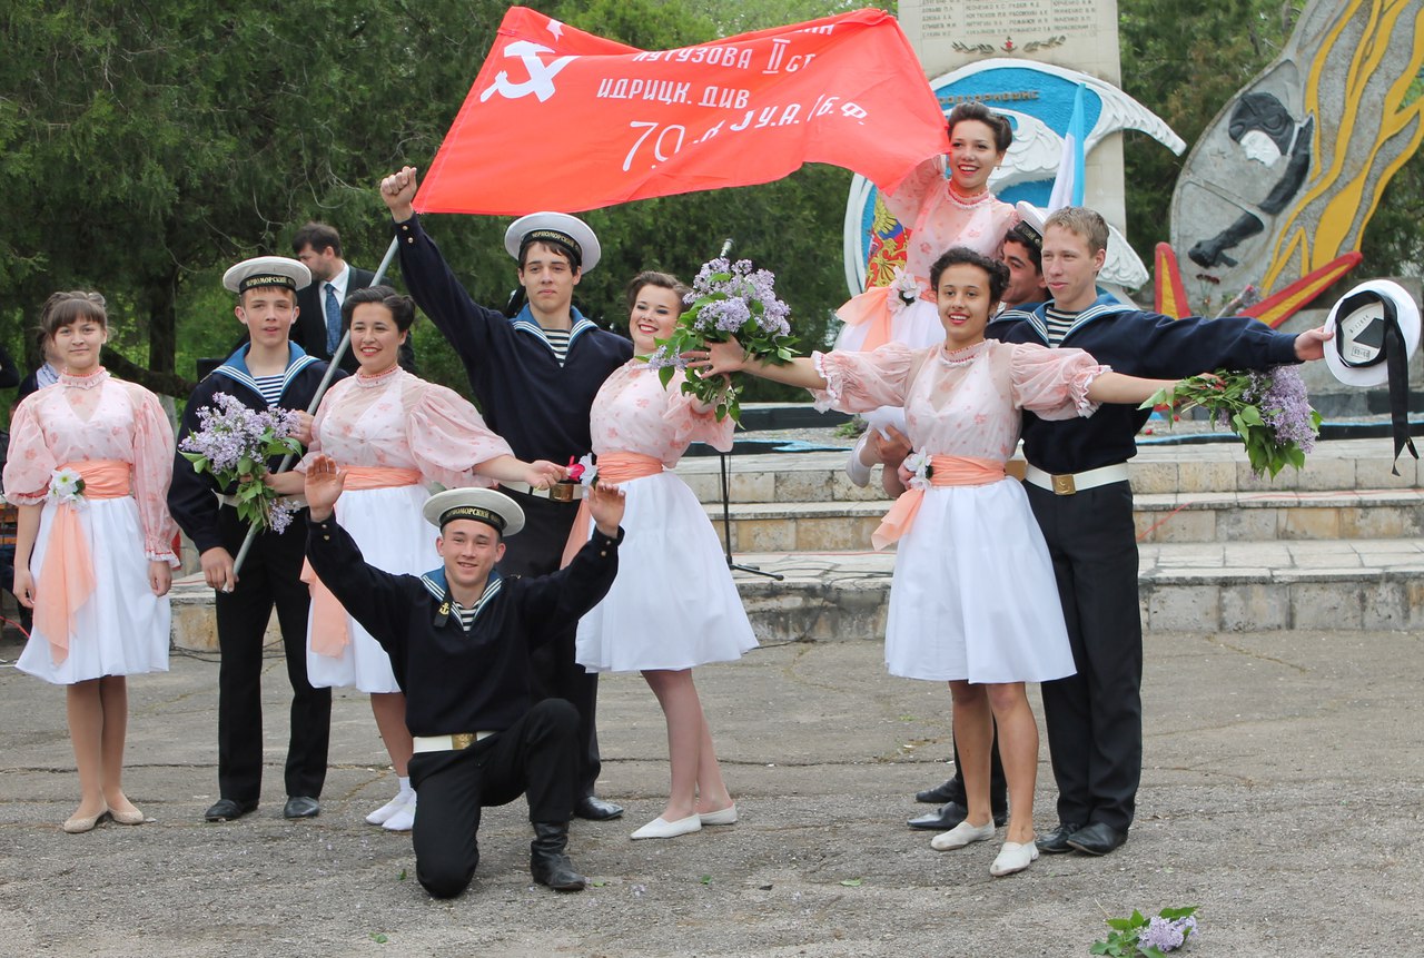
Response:
M884 635L894 555L887 552L750 552L733 572L762 642ZM1139 547L1142 621L1152 631L1424 628L1424 542L1327 539L1169 542ZM174 584L172 642L218 648L212 589L202 577ZM279 643L276 619L266 643Z

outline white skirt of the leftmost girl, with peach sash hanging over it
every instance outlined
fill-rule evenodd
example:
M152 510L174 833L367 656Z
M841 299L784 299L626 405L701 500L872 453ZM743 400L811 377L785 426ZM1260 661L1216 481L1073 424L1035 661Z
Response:
M40 569L56 508L46 504L40 512L40 532L30 557L36 589L43 588ZM56 665L48 639L36 628L16 668L54 685L167 672L172 611L168 596L154 595L148 585L138 505L128 497L88 500L78 515L94 561L94 592L75 612L70 653Z

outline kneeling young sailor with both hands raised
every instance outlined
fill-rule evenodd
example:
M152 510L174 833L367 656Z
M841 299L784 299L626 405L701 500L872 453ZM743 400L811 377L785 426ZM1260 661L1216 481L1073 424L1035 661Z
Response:
M362 559L335 518L343 484L329 457L309 465L306 555L390 655L406 692L416 744L410 781L420 796L412 831L416 877L436 898L459 895L480 861L481 809L527 794L534 881L582 890L584 877L564 854L578 799L578 713L564 699L535 696L530 666L537 645L577 622L612 585L622 494L594 488L588 544L568 568L524 578L496 569L504 538L524 525L514 500L494 490L439 493L424 517L440 530L443 565L417 578Z

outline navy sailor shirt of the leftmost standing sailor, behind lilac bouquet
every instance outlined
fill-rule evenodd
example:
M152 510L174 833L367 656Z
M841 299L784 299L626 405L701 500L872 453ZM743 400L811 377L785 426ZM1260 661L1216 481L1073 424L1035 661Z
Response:
M216 480L205 473L197 473L192 463L182 457L182 441L188 433L198 428L198 411L212 406L212 397L218 393L235 396L244 406L256 411L266 411L268 403L262 399L256 380L248 370L248 349L245 343L232 356L225 359L218 369L208 373L198 387L188 397L184 407L182 423L178 426L178 451L174 453L174 478L168 487L168 512L174 517L198 552L226 545L218 527L218 493L232 493L234 490L218 488ZM281 409L306 410L312 404L312 397L322 386L326 376L326 363L308 356L296 343L288 343L286 372L282 374L282 391L276 401ZM333 381L346 373L337 370ZM268 461L269 470L276 470L282 464L281 457Z

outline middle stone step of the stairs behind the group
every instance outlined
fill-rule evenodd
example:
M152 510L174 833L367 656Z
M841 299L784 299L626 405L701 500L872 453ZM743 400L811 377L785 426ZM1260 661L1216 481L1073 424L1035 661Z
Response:
M1138 494L1142 542L1411 538L1424 534L1424 491ZM735 552L824 552L870 547L890 507L871 501L733 502ZM722 504L708 504L722 532Z

